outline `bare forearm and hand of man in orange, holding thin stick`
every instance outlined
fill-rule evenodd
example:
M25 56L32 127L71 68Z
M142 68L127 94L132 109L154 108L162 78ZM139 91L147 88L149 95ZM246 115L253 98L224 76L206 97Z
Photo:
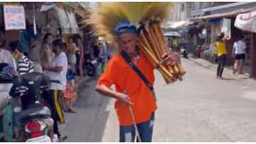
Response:
M119 101L122 101L124 104L131 104L131 99L129 99L129 96L127 94L115 92L109 87L105 86L104 84L97 84L96 91L102 94L103 96L109 96L115 99L118 99Z

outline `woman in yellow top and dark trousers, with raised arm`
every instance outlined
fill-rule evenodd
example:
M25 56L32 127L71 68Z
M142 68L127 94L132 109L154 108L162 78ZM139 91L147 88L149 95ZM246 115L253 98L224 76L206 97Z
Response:
M225 61L227 59L227 50L225 48L224 35L218 35L215 43L217 55L218 55L218 68L217 68L217 79L223 79L222 74L225 67Z

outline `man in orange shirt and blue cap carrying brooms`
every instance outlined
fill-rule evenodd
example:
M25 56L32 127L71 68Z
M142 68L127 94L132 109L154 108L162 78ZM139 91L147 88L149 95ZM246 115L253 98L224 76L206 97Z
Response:
M154 84L154 65L136 46L137 29L129 21L120 21L114 30L120 47L129 55L132 62L144 74L151 85ZM175 55L171 52L163 55L164 65L174 65ZM110 86L115 86L115 91ZM117 112L120 142L132 142L135 137L129 105L132 106L137 128L142 142L151 142L156 100L151 89L139 75L127 64L122 55L112 57L105 72L97 82L97 92L116 99L114 108Z

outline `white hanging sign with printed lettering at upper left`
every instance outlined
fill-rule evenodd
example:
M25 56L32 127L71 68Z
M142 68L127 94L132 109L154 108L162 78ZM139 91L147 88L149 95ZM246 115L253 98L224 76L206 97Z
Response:
M23 6L4 5L4 26L6 30L26 29L26 18Z

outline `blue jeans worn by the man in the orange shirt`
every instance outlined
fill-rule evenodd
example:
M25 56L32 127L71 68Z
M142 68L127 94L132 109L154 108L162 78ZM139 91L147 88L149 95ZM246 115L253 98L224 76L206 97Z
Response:
M151 114L149 121L138 123L137 127L142 142L151 142L154 126L154 113ZM120 126L119 141L120 142L134 142L135 128L134 125Z

